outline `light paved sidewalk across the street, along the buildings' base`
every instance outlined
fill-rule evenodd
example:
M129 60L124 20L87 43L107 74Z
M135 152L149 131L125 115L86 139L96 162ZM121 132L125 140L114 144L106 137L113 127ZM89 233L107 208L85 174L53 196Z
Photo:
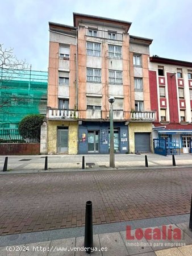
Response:
M157 154L115 154L115 168L109 167L109 155L85 155L85 170L132 170L144 169L145 155L148 157L147 168L179 168L192 167L192 155L176 155L176 167L173 167L172 155L162 156ZM3 170L5 156L0 156L0 171ZM6 173L43 172L45 155L38 156L9 156ZM48 155L48 171L82 171L82 155ZM47 171L46 171L47 172ZM0 174L3 174L0 172Z

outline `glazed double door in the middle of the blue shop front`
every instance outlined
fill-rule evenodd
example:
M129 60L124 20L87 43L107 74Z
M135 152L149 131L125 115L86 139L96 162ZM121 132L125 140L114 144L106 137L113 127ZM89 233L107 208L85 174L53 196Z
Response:
M87 138L87 152L98 153L99 152L99 131L88 131Z

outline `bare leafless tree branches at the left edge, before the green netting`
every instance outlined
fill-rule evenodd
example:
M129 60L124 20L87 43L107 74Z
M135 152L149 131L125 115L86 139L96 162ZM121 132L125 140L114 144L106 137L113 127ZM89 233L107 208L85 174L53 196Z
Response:
M28 68L28 64L26 60L19 60L14 55L13 48L4 48L3 44L0 43L0 92L3 90L9 91L10 84L9 81L15 75L18 76L20 72L24 72ZM8 97L1 96L0 94L0 109L5 108L7 106L11 106L12 104L17 104L20 101L20 98L15 95L7 94ZM3 112L6 112L3 111Z

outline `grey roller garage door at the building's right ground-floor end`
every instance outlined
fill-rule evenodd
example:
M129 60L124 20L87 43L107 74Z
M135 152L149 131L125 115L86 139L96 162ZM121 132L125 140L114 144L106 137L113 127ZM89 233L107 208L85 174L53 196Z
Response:
M135 133L135 152L150 152L150 133Z

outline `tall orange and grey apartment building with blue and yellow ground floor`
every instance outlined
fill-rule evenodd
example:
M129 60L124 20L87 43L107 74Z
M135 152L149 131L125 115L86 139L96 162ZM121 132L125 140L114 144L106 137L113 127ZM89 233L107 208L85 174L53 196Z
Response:
M48 154L108 153L109 96L115 152L152 151L152 40L129 35L130 22L76 13L73 20L49 22Z

